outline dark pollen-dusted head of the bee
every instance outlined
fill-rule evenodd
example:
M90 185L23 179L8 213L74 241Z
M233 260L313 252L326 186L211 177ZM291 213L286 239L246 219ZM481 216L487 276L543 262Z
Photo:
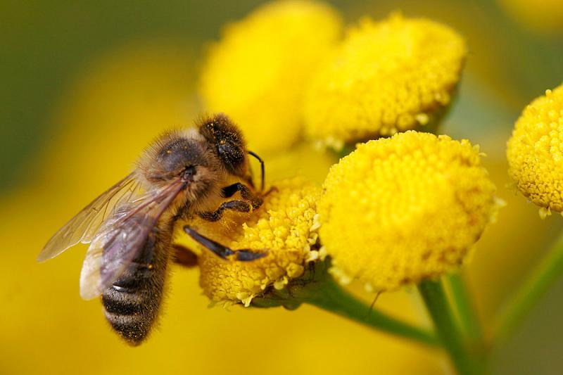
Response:
M242 177L246 172L246 142L238 127L226 115L207 117L199 126L200 134L215 148L227 172Z

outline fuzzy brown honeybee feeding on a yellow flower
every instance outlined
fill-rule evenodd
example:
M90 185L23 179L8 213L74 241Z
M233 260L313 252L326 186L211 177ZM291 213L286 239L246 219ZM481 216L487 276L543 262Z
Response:
M248 155L260 161L262 185L255 189ZM179 219L216 222L227 210L252 212L265 194L264 162L246 149L243 134L223 114L196 127L160 136L127 177L73 217L46 243L37 258L56 257L77 243L89 243L80 295L101 295L113 329L139 345L156 321L172 258L172 231ZM234 198L236 194L239 198ZM231 250L184 227L221 258L251 261L265 253Z

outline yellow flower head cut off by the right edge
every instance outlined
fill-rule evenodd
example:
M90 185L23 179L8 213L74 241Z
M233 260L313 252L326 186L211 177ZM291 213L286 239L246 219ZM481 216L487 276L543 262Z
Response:
M549 212L563 211L563 85L524 109L507 144L518 189Z

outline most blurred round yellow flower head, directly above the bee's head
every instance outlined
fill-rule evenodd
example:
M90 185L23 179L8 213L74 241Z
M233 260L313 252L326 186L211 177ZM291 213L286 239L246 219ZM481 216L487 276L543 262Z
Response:
M339 14L314 1L274 1L226 27L203 66L208 110L229 113L251 148L279 151L301 135L303 82L341 35Z

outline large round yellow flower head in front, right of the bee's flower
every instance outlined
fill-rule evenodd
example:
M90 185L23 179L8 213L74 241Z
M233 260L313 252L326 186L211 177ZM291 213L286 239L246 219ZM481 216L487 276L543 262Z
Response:
M359 145L331 168L323 191L331 272L371 291L460 265L496 211L478 147L414 131Z

